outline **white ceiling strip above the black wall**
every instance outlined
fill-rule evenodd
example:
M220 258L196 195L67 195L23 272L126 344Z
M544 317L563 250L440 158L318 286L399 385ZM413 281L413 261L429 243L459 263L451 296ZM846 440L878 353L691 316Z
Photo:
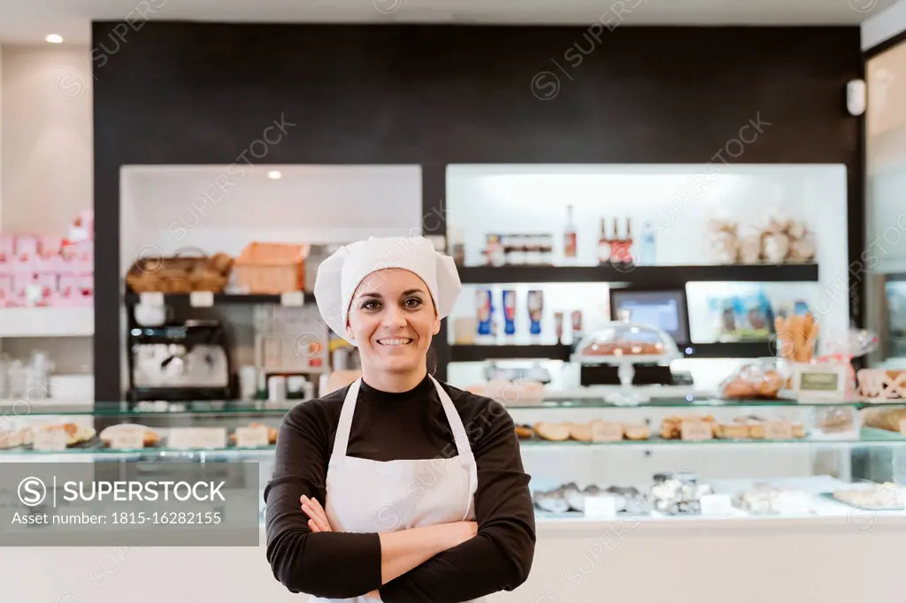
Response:
M626 6L624 25L818 25L860 24L895 1L0 0L0 43L41 43L51 33L67 43L90 43L92 20L139 18L140 6L149 7L149 18L167 21L583 25Z

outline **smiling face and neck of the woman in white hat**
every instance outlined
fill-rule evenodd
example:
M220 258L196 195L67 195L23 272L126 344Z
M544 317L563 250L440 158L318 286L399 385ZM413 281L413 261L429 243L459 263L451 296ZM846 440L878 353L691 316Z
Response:
M352 295L346 331L359 348L369 383L381 374L423 373L431 338L439 330L428 287L408 270L371 273Z

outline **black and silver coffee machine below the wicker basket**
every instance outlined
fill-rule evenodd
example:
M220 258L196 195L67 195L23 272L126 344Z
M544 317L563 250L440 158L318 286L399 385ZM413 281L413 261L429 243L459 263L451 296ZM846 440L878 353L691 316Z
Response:
M129 343L130 401L235 398L228 338L219 321L136 326Z

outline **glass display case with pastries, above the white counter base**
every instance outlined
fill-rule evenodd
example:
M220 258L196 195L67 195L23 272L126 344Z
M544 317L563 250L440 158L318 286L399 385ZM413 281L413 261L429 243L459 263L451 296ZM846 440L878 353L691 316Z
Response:
M565 398L506 408L539 523L906 514L906 402L651 397L621 407ZM0 407L0 462L93 463L96 475L124 461L163 473L192 462L223 465L235 479L252 463L263 489L287 410L266 402Z

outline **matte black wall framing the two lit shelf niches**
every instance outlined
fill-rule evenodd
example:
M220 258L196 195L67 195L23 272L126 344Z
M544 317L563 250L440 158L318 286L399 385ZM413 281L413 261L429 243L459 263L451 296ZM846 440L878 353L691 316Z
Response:
M97 399L120 398L120 166L233 163L281 115L245 158L421 164L426 214L448 163L843 163L863 248L857 27L116 26L93 26Z

